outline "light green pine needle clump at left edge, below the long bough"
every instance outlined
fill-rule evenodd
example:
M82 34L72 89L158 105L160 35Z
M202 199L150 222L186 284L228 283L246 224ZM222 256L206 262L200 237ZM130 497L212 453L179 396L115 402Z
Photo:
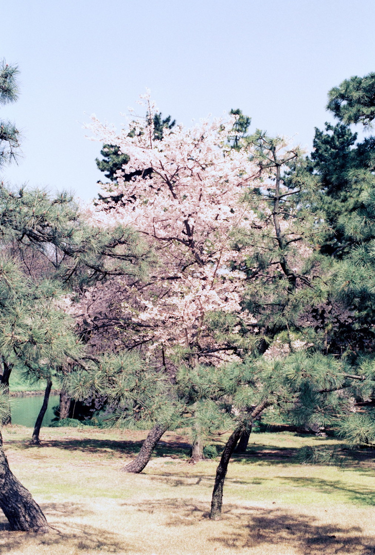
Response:
M0 353L7 367L22 366L31 380L51 379L84 355L75 322L59 310L61 289L43 280L35 284L13 260L0 259Z

